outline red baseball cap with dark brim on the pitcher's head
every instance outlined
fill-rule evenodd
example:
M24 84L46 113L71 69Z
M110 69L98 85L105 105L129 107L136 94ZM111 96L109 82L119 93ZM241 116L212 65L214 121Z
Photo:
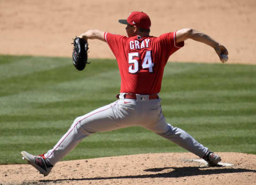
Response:
M144 12L132 12L129 14L129 17L126 19L120 19L118 22L124 25L135 25L142 29L150 29L151 21L148 15Z

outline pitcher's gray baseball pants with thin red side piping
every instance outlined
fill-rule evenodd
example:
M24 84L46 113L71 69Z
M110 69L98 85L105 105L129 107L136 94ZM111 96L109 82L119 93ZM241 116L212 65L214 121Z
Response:
M68 132L44 155L47 162L55 165L86 136L129 126L147 128L199 157L206 154L208 149L187 132L166 123L160 98L149 100L148 95L137 95L137 100L133 100L124 99L124 94L107 106L77 117Z

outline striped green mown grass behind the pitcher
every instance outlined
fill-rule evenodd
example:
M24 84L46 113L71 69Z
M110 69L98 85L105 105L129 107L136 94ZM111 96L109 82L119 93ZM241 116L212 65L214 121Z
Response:
M77 71L69 58L0 55L0 164L42 154L73 120L116 100L115 60L91 59ZM213 151L256 154L256 66L168 63L162 83L167 122ZM63 160L186 152L141 127L96 133Z

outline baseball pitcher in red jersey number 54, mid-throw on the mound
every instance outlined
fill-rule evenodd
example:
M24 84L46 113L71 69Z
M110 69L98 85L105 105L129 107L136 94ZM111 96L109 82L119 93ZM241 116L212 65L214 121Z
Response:
M127 36L97 29L89 30L78 37L79 41L74 42L73 52L75 67L83 70L87 55L85 64L81 65L79 62L83 60L80 61L79 52L87 52L83 49L85 46L88 48L87 41L98 39L108 44L116 57L121 76L121 90L117 101L77 117L67 133L46 154L34 156L22 151L23 158L46 176L85 137L97 132L141 126L205 159L209 166L217 165L221 160L220 156L209 151L187 132L166 123L159 92L167 60L184 46L187 39L213 47L221 62L227 60L228 51L225 46L201 31L190 28L165 33L159 37L150 36L151 21L143 12L132 12L127 19L119 22L126 25ZM75 43L83 45L76 46Z

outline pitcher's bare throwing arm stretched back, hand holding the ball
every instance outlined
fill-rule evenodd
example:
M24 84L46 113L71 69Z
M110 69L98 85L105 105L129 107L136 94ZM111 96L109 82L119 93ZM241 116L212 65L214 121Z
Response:
M211 38L210 36L202 33L201 31L191 29L191 28L185 28L185 29L178 30L176 32L176 42L177 43L182 42L182 41L186 41L188 38L213 47L213 49L218 54L221 61L222 61L221 54L228 55L228 50L226 49L225 46L218 43L213 38Z

